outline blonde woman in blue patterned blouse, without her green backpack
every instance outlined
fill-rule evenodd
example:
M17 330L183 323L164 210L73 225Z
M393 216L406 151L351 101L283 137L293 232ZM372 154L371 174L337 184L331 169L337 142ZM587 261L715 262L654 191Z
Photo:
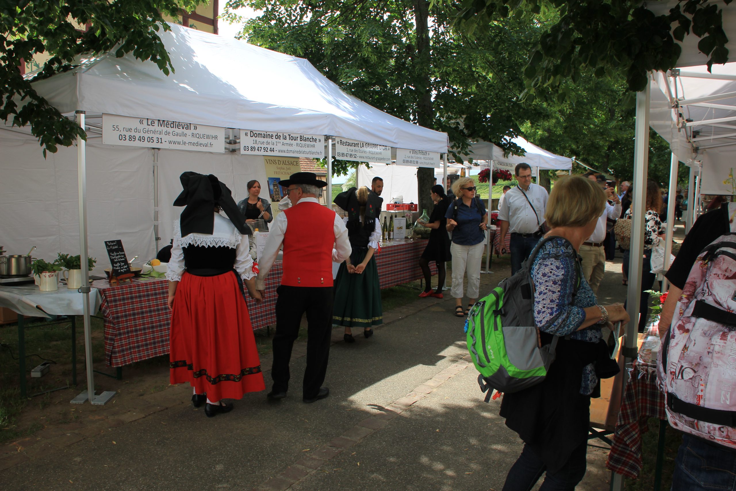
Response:
M585 475L590 398L600 397L601 378L619 370L601 328L629 322L622 305L598 305L578 262L605 204L601 186L581 176L562 177L549 196L549 240L530 269L534 325L542 346L562 337L541 383L503 395L500 415L524 441L503 491L531 490L545 472L540 490L573 490Z

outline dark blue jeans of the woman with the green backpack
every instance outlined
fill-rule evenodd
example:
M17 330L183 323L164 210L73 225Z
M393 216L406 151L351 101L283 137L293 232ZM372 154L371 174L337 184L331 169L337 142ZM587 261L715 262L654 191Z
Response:
M585 440L570 453L570 458L562 469L556 473L547 473L539 491L573 491L585 476L587 448L588 442ZM502 491L529 491L546 470L547 466L542 459L525 443L521 455L506 476Z

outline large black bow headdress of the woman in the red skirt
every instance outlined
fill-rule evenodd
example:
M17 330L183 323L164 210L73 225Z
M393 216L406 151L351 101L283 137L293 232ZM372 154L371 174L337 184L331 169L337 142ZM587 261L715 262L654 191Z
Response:
M179 180L184 188L174 199L174 206L185 206L181 214L182 237L190 233L212 233L215 226L215 205L219 205L227 218L243 235L250 236L250 227L245 225L245 216L238 209L233 193L213 174L184 172Z

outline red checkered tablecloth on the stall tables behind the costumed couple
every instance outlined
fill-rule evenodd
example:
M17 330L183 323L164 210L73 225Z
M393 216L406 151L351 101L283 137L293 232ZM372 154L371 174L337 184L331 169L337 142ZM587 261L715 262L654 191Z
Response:
M376 255L381 288L422 278L419 258L425 240L388 241ZM436 267L432 264L432 274ZM263 303L247 299L253 329L276 323L276 289L281 281L281 263L275 263L266 279ZM102 296L100 311L105 319L105 363L122 367L135 361L169 353L171 311L166 305L169 282L163 279L133 280L110 286L107 280L92 285Z

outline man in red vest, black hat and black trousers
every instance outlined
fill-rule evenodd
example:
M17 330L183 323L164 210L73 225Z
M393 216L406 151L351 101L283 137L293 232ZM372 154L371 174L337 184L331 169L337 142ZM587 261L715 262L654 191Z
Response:
M307 367L302 400L314 403L330 395L323 387L332 333L332 262L350 257L350 241L342 219L317 198L327 186L313 172L297 172L280 186L289 193L291 207L274 219L261 253L256 287L263 291L266 276L283 245L283 276L277 289L276 333L269 400L286 398L289 389L291 347L307 314ZM333 249L334 246L334 249Z

